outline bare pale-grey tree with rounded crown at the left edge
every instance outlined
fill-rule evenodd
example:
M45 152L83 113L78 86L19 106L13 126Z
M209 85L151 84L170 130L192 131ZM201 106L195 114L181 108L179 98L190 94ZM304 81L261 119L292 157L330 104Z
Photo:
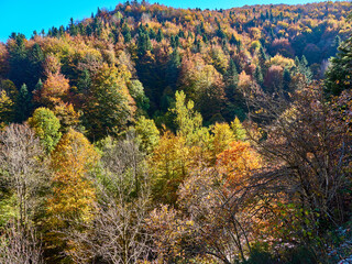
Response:
M10 124L0 134L1 180L16 196L16 216L20 226L28 227L37 206L36 191L45 178L43 150L34 132L24 124Z

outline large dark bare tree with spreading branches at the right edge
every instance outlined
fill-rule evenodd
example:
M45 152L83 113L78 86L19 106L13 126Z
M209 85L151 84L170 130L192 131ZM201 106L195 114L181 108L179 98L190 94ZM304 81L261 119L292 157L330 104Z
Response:
M343 191L351 180L352 138L340 107L327 101L318 85L293 95L256 94L248 99L254 109L251 118L261 120L249 135L268 164L252 178L253 186L261 191L285 191L311 212L310 220L320 229L342 222ZM319 235L318 229L316 232Z

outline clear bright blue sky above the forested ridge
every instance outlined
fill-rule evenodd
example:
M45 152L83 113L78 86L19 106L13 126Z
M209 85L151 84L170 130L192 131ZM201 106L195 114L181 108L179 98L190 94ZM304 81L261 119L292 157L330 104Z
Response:
M125 0L122 0L125 2ZM139 1L140 2L140 1ZM306 3L311 0L150 0L175 8L228 9L244 4ZM81 20L97 12L97 8L114 9L119 0L0 0L0 41L12 32L30 37L34 30L67 25L69 19Z

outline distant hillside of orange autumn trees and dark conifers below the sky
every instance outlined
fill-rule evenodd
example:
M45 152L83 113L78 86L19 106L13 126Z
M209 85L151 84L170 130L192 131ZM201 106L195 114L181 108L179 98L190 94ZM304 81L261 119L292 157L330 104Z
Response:
M271 91L290 89L298 72L309 81L322 78L327 59L351 32L345 21L349 9L348 2L220 11L118 4L114 11L98 10L90 19L72 21L31 40L13 34L0 46L0 76L19 91L25 84L29 95L41 79L45 95L35 91L35 103L53 108L54 102L45 101L53 97L59 100L54 105L73 105L86 116L82 122L89 132L89 123L99 119L88 113L88 98L96 97L90 86L101 76L119 79L124 118L111 117L95 134L111 133L141 113L153 117L158 125L166 123L164 114L176 89L195 101L206 123L231 121L234 116L243 120L246 110L231 78L237 82L241 74L241 80L254 80ZM64 84L51 89L55 81ZM204 106L204 100L210 101ZM15 120L25 120L33 110L31 106L19 112L23 117Z

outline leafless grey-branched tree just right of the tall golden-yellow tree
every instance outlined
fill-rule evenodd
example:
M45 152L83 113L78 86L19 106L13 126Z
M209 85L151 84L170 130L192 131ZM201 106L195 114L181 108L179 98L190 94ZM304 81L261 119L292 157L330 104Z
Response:
M95 219L85 232L68 231L76 243L76 263L138 263L150 254L144 220L150 210L150 184L144 156L133 136L102 147L101 168L95 175L98 201Z

